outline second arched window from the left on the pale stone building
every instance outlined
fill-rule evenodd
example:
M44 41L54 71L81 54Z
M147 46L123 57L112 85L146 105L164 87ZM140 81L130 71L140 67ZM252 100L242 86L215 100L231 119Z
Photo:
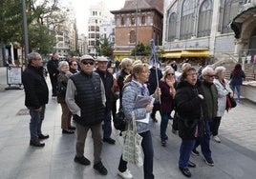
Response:
M188 39L193 35L196 2L195 0L185 0L181 11L181 39Z

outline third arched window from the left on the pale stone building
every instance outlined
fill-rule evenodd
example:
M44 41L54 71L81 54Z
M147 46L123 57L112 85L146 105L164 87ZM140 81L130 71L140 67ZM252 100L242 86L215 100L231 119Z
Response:
M205 0L199 12L198 37L209 36L212 22L212 1Z

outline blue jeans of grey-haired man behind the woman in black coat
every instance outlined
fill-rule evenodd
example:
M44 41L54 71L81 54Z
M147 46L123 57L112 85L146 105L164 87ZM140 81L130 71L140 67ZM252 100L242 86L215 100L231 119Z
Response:
M194 149L196 149L199 145L201 145L201 150L202 150L203 156L205 158L211 158L211 149L210 149L211 131L210 131L210 125L211 125L212 122L213 122L212 119L204 121L205 132L203 133L203 135L200 138L198 138L196 140L196 144L195 144L195 148L194 148Z

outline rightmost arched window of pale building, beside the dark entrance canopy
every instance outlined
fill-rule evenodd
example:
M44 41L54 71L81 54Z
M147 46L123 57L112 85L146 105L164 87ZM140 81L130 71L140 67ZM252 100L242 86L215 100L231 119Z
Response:
M232 32L230 23L237 15L240 0L224 0L223 29L222 33Z

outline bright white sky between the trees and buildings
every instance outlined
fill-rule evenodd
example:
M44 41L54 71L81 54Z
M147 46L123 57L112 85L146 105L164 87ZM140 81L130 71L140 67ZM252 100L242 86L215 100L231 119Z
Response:
M100 0L60 0L65 6L73 6L78 33L87 33L87 23L89 18L89 8ZM103 0L107 10L120 10L123 8L125 0Z

